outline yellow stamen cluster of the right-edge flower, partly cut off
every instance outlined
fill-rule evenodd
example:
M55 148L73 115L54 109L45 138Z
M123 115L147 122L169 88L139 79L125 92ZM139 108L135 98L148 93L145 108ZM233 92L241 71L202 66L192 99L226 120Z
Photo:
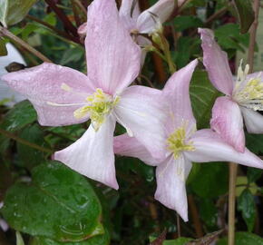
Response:
M263 110L263 83L260 73L251 79L247 79L249 66L242 70L242 62L239 65L238 79L233 93L233 98L240 105L254 111Z

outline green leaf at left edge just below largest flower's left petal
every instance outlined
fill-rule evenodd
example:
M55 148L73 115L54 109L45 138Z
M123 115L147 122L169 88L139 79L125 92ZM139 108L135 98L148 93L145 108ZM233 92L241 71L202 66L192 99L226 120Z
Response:
M0 127L6 131L17 131L24 128L29 123L36 120L36 113L33 105L29 101L16 103L15 106L5 114L0 122Z

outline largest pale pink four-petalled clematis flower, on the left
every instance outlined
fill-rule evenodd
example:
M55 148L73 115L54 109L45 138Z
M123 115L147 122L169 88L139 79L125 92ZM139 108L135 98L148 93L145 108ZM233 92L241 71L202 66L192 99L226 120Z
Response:
M99 15L98 15L99 13ZM85 122L91 125L54 159L118 189L113 131L120 122L157 158L163 157L160 91L131 86L140 70L141 50L122 25L114 0L95 0L88 11L85 39L88 76L56 64L8 73L3 80L23 93L44 126ZM154 144L152 144L154 141Z

